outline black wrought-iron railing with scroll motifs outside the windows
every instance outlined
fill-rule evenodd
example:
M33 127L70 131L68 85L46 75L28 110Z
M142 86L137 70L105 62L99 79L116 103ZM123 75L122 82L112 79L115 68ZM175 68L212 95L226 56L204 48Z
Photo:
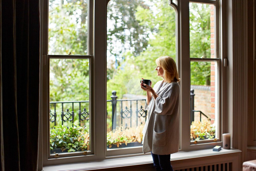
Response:
M116 96L116 91L112 91L111 95L111 100L107 100L107 102L111 102L111 110L112 110L112 130L116 128L118 121L121 120L121 125L123 125L123 121L126 119L129 120L129 125L132 127L132 116L133 116L133 106L132 104L136 105L135 109L135 116L136 116L136 126L138 126L138 119L144 118L145 121L147 119L147 111L143 109L142 105L138 105L138 101L146 101L146 99L117 99L118 96ZM190 118L191 118L191 123L195 119L195 112L200 112L200 121L201 121L201 116L207 117L202 111L199 110L194 110L194 99L195 99L195 94L194 90L190 90ZM124 103L130 103L129 107L124 105ZM119 104L118 108L119 111L118 113L120 114L119 117L117 118L117 104ZM61 105L61 110L56 110L56 107L60 107ZM72 106L71 106L72 105ZM50 102L50 109L53 109L54 111L50 110L50 122L54 123L54 126L56 126L56 122L58 124L63 125L65 122L70 122L74 123L74 120L79 121L79 125L84 122L88 122L90 118L90 112L89 112L89 100L86 101L59 101L59 102ZM70 111L71 109L71 111ZM61 117L57 117L57 113L60 113ZM108 115L108 111L107 111ZM57 121L57 118L59 118L60 121ZM208 117L207 117L208 118ZM119 124L120 125L120 124ZM125 127L128 127L128 123L125 123Z

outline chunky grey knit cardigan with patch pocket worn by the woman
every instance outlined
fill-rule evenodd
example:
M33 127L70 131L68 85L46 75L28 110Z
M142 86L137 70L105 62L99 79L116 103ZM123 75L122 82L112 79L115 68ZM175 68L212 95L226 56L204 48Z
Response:
M143 129L143 153L158 155L172 154L179 151L179 96L177 82L158 81L153 87L158 97L152 96L147 121Z

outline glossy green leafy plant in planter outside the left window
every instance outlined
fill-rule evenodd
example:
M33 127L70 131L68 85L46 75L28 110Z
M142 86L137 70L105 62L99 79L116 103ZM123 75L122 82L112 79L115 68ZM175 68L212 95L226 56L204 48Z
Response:
M63 152L85 151L89 149L88 127L73 124L73 127L64 125L50 129L50 150L60 148Z

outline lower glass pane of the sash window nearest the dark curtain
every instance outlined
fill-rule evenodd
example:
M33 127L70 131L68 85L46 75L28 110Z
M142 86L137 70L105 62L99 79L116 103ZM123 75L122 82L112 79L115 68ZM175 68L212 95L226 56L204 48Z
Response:
M89 150L89 59L50 59L50 153Z

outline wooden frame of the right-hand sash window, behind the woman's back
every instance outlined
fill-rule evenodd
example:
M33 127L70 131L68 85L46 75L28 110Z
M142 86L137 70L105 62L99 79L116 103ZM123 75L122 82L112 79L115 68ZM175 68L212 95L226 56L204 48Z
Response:
M215 5L215 54L216 58L190 58L190 41L189 41L189 3L202 3L202 4L210 4ZM222 125L222 111L226 110L226 107L222 104L222 99L226 98L226 95L223 94L222 89L226 87L226 82L223 81L226 79L225 73L226 70L223 71L223 65L222 65L222 59L223 59L223 51L221 45L223 45L223 39L222 37L222 31L224 30L225 26L223 23L223 18L221 18L222 14L222 8L220 3L222 1L220 0L183 0L183 3L178 1L179 9L182 11L180 13L180 42L183 42L180 47L180 77L182 78L180 81L181 84L181 105L180 105L180 115L181 115L181 151L191 151L191 150L199 150L204 148L212 148L215 145L222 146L222 132L226 132L227 127ZM182 27L181 27L182 26ZM183 50L184 49L184 50ZM218 121L218 139L215 140L200 140L197 141L196 144L194 142L190 142L190 109L186 109L183 106L190 106L190 62L191 61L217 61L218 63L218 79L219 79L219 85L218 85L218 110L219 110L219 121ZM189 68L189 70L187 70ZM189 85L189 86L188 86ZM187 119L189 118L189 119Z

